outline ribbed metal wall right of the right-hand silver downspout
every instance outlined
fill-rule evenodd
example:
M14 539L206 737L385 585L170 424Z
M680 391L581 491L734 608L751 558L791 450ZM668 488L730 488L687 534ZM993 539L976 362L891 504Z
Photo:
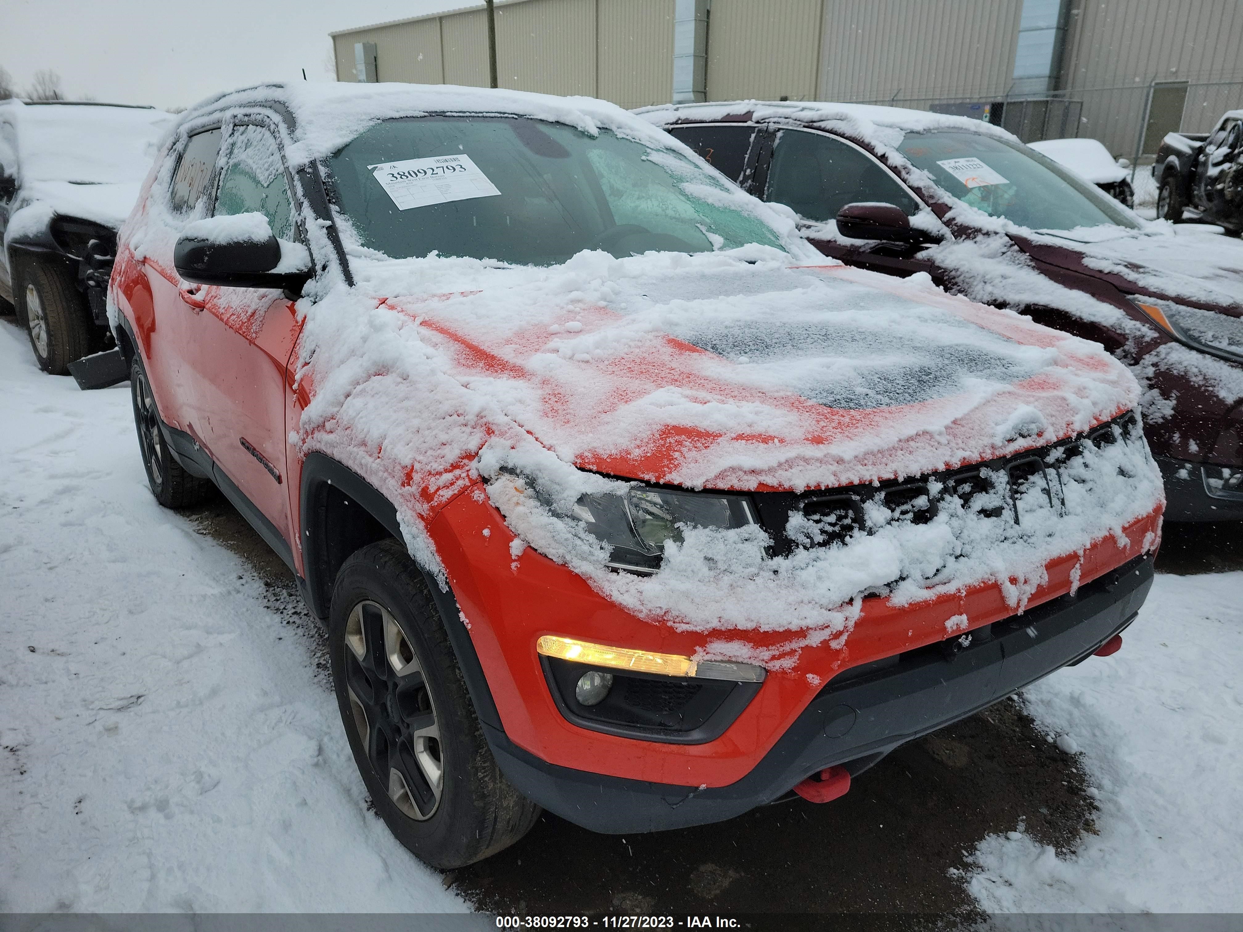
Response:
M1243 107L1243 2L1071 0L1059 87L1084 102L1080 135L1130 157L1154 80L1191 83L1188 133Z

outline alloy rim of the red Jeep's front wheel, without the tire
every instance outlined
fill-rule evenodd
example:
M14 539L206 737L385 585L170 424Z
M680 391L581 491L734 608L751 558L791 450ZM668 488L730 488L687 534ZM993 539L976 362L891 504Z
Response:
M358 603L346 621L346 682L354 728L389 799L430 819L444 790L440 726L414 646L393 614Z

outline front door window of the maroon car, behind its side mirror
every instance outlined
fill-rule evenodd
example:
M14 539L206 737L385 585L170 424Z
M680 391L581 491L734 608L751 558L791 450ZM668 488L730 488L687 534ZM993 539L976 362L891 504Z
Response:
M919 203L866 153L832 135L783 129L777 135L764 200L784 204L815 222L837 217L846 204L883 201L907 216Z

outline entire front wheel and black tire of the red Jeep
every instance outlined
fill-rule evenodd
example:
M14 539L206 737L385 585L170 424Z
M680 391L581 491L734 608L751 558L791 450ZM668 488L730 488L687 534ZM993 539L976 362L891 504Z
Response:
M342 565L328 651L354 763L398 841L451 870L530 831L541 809L497 767L444 620L398 542L364 547Z

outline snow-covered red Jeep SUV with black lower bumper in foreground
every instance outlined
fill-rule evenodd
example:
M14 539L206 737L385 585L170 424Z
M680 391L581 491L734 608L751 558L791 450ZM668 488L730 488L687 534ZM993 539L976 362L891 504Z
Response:
M824 802L1094 652L1163 498L1099 347L825 265L612 104L264 86L188 113L109 288L152 491L329 631L419 857Z

